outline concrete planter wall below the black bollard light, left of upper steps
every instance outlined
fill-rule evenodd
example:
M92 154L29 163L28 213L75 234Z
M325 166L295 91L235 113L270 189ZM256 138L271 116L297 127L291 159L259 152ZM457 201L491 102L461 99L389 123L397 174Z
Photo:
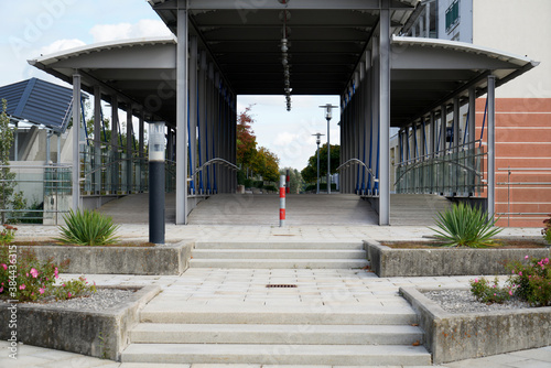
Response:
M41 261L53 257L55 263L69 259L67 273L182 274L190 266L193 243L177 242L156 247L65 247L20 246L32 250Z

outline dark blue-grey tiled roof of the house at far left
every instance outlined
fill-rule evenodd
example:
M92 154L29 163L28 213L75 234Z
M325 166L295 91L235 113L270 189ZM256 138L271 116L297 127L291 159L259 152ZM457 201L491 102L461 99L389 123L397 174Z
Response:
M45 80L31 78L0 87L0 99L7 100L6 112L15 121L64 132L71 120L73 90Z

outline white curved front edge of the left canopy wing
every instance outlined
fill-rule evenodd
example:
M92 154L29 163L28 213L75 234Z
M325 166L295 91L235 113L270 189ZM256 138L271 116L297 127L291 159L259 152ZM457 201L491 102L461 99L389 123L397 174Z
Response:
M114 47L132 47L134 45L142 44L163 44L163 43L173 43L176 44L177 40L174 35L169 36L152 36L152 37L139 37L139 39L127 39L127 40L115 40L107 42L98 42L89 45L84 45L74 48L67 48L64 51L60 51L57 53L40 56L36 58L29 59L29 64L33 65L35 63L41 63L44 65L55 63L60 58L66 58L72 56L78 56L83 53L90 52L99 52L105 48L114 48Z

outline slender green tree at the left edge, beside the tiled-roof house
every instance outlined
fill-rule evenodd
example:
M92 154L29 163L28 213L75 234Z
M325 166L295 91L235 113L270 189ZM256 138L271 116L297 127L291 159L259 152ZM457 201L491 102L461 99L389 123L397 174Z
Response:
M23 192L15 192L15 173L10 170L10 150L13 144L13 131L10 128L10 118L6 110L8 102L2 99L0 113L0 206L2 224L7 221L7 209L23 209L26 201Z

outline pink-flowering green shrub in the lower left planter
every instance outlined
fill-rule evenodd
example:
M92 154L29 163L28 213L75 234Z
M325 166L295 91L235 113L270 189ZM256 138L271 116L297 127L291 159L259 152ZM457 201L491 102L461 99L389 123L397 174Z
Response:
M71 299L96 291L84 278L55 286L68 260L57 266L52 259L40 262L33 251L23 250L17 257L10 251L8 247L0 247L0 297L33 302L46 296Z

